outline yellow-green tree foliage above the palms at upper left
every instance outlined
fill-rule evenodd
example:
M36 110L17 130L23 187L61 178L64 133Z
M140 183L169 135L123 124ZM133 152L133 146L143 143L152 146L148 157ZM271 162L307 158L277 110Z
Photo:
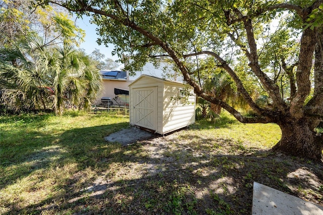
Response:
M17 40L36 32L43 45L68 43L78 45L85 36L84 30L75 26L67 11L56 5L33 8L31 1L0 2L0 47L10 47Z

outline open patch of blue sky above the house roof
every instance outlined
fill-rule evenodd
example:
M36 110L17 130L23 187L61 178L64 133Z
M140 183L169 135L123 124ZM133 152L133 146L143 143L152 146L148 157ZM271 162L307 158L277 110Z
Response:
M112 56L111 52L114 48L113 44L110 44L109 47L106 47L105 45L98 45L96 42L96 39L98 38L98 35L96 35L96 25L90 23L90 17L83 16L83 19L78 18L76 20L76 25L80 27L81 29L85 30L85 38L84 42L81 43L80 48L84 48L85 52L87 54L91 54L92 51L94 51L95 48L99 49L102 54L105 55L105 58L110 58L114 61L118 60L118 56Z

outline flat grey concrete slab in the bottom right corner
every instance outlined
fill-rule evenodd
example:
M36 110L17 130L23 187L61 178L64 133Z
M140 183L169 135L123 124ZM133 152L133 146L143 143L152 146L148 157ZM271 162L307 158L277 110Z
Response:
M322 215L323 207L253 182L252 214Z

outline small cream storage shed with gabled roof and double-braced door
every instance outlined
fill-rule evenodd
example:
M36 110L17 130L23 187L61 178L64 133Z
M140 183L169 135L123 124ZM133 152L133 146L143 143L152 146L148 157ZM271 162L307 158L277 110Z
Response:
M195 122L195 94L185 85L149 75L141 75L130 85L130 125L166 134Z

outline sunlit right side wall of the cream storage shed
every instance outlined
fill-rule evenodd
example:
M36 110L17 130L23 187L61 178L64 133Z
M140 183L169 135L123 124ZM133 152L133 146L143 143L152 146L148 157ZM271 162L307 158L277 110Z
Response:
M195 122L195 95L189 96L185 103L181 99L174 99L180 88L183 88L183 85L165 85L163 134Z

